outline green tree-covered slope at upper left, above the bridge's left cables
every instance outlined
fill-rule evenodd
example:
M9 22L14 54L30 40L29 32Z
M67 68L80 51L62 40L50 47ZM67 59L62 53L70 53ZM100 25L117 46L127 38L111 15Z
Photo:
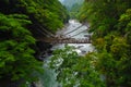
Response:
M53 33L61 28L69 17L67 10L58 0L13 0L8 2L1 0L0 3L0 12L26 14L34 24L40 24ZM9 12L8 9L10 9Z

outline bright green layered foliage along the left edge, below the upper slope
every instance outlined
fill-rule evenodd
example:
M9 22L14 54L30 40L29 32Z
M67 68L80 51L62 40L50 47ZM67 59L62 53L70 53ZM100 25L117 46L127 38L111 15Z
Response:
M40 72L41 63L34 58L35 51L31 48L35 39L25 28L28 24L26 15L0 13L0 80L32 82L36 77L32 72Z

